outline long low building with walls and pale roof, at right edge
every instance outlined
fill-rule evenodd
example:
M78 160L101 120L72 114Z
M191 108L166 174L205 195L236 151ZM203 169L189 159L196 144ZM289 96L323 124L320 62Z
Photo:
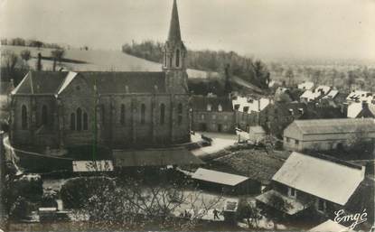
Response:
M292 151L344 149L353 140L373 141L372 118L295 120L284 130L284 148Z

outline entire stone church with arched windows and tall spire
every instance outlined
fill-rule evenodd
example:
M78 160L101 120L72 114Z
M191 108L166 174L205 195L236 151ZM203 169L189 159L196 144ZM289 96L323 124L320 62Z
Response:
M186 56L174 0L161 71L31 70L11 93L11 143L132 148L190 142Z

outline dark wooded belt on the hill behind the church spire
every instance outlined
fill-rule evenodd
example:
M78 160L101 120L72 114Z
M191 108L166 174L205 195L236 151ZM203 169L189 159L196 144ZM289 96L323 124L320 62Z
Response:
M131 42L122 46L122 51L155 62L162 62L164 43L145 41ZM247 80L259 88L267 88L270 72L262 60L241 56L235 51L188 51L187 68L224 73L229 68L230 75Z

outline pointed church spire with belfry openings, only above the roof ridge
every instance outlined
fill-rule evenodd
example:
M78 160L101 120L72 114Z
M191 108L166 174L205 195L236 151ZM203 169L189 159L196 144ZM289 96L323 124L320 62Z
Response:
M186 48L181 40L177 2L173 0L168 40L164 45L163 70L185 70Z

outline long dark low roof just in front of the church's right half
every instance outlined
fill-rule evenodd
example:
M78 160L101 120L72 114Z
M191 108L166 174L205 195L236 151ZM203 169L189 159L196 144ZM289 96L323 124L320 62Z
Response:
M145 150L113 150L115 166L143 167L203 164L183 147Z

